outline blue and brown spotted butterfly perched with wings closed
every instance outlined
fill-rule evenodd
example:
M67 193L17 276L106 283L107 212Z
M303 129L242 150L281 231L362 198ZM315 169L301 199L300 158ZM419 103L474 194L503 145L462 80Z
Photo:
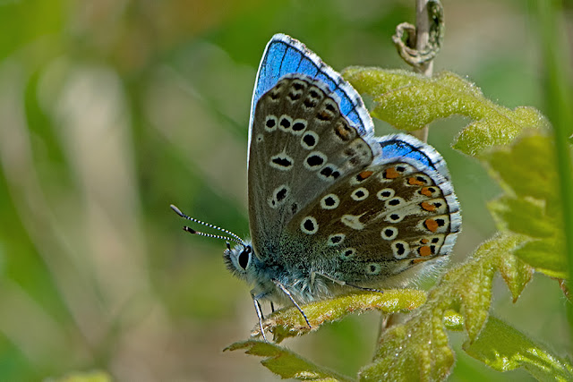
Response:
M260 301L300 304L345 288L378 290L447 259L461 229L444 159L407 134L375 137L363 100L303 43L273 36L252 95L248 144L251 239L224 259ZM235 242L231 248L229 242Z

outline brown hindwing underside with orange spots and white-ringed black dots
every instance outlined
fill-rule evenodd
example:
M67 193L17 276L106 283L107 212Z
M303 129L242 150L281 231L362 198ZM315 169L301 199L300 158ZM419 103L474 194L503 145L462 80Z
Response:
M312 236L304 250L330 264L330 276L352 284L382 281L449 254L459 212L448 184L408 157L379 158L324 191L286 233Z

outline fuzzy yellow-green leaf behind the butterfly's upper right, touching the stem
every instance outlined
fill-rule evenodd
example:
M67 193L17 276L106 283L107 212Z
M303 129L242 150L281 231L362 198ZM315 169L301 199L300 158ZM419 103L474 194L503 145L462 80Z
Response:
M375 102L372 116L398 129L415 131L439 118L465 115L474 122L459 134L455 149L477 156L507 145L527 127L541 128L546 119L533 107L511 110L483 97L474 83L452 72L426 77L413 72L349 67L343 72L360 93Z

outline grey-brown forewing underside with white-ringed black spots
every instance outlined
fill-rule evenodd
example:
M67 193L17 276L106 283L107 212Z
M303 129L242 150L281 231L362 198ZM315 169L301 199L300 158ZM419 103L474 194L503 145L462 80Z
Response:
M299 211L378 152L321 81L286 75L257 102L249 157L253 247L261 257ZM373 149L372 149L373 148Z

